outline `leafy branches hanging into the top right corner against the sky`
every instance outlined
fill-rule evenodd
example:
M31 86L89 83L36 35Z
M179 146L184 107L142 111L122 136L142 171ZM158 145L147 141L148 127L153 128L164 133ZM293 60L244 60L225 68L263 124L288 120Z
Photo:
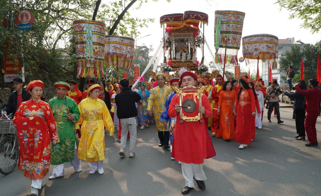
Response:
M301 28L318 33L321 29L321 1L319 0L277 0L275 4L290 11L290 19L303 20Z

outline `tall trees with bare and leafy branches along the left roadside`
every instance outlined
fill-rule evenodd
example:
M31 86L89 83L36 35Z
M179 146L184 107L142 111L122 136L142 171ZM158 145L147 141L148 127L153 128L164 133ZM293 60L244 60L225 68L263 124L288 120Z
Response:
M0 21L6 18L10 24L10 13L14 20L22 10L31 11L36 21L30 31L21 31L15 24L5 29L1 22L0 45L5 47L0 47L0 58L3 58L4 51L9 53L9 57L13 60L21 58L26 70L26 82L39 78L46 84L52 84L58 79L75 78L77 67L72 22L91 20L96 0L12 0L9 2L10 4L7 4L7 1L0 2ZM139 9L143 3L147 2L147 0L108 1L100 4L95 18L106 23L107 34L136 37L140 34L137 28L147 27L148 23L153 22L154 19L133 17L130 15L130 10ZM69 54L69 58L65 58L66 53ZM0 63L0 69L3 69L3 61Z

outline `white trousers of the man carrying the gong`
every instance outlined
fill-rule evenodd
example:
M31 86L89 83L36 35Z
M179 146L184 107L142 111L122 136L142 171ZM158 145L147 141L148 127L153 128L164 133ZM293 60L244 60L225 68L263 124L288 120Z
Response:
M202 164L193 164L193 163L183 163L182 162L182 174L185 178L186 186L193 188L194 187L194 179L196 180L207 180L205 173L203 171Z

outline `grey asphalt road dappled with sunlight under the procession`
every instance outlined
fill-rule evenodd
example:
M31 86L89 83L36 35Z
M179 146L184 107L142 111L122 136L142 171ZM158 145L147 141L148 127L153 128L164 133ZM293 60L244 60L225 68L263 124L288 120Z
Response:
M291 108L281 109L283 124L272 117L268 123L264 114L263 128L256 129L256 140L244 150L239 143L212 138L217 156L205 160L206 190L195 189L189 195L208 196L312 196L321 195L321 145L305 147L307 141L296 141L295 120ZM139 127L138 127L139 128ZM89 174L86 162L82 172L76 173L65 163L65 176L48 180L39 191L46 196L176 196L181 195L185 180L181 166L170 160L170 151L158 147L154 125L137 129L136 156L119 157L120 143L115 136L106 136L103 167L105 173ZM317 135L321 144L321 117L317 121ZM117 133L115 133L117 135ZM0 174L0 196L27 196L31 181L15 169Z

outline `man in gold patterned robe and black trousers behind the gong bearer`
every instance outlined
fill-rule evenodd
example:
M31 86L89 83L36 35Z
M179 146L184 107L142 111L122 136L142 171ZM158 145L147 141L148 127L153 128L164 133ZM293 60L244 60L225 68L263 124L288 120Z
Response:
M160 139L160 144L158 146L164 146L165 149L169 149L169 130L164 128L163 123L160 124L160 115L163 111L168 95L172 93L172 89L169 86L165 86L165 74L158 73L156 78L158 86L152 89L151 95L148 99L147 110L149 115L151 115L154 106L155 123L158 131L158 137Z

